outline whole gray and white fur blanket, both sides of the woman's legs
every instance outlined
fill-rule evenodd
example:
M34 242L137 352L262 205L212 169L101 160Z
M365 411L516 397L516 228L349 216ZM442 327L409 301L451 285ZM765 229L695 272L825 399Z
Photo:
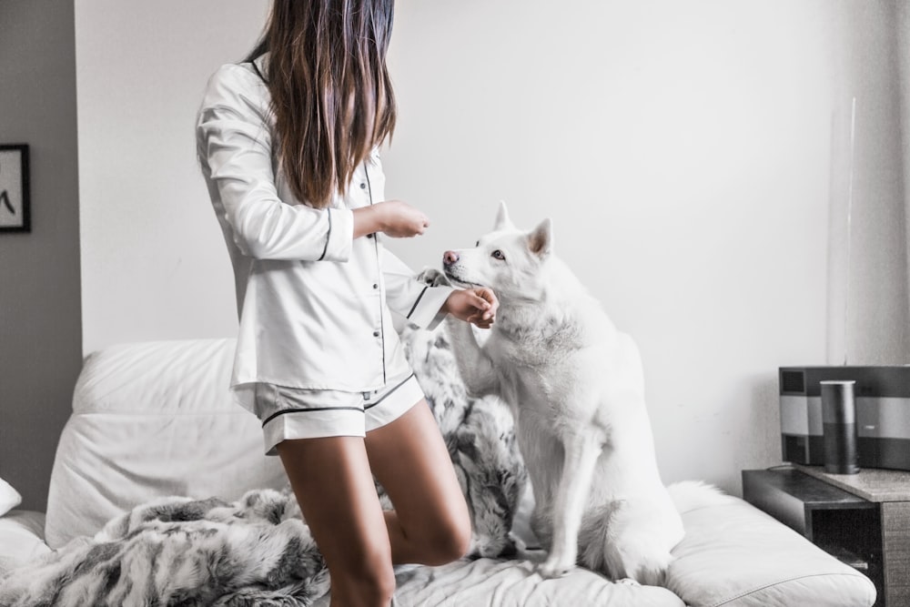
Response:
M501 401L467 396L444 329L410 327L401 337L470 507L471 554L511 555L511 524L526 482L511 414ZM248 491L234 502L170 497L142 504L95 537L0 579L0 605L9 607L307 607L326 592L328 571L289 489Z

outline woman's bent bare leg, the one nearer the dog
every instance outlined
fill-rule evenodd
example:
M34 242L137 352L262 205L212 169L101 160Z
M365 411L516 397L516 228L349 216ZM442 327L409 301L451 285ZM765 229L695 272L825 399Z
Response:
M438 565L464 556L470 514L440 428L425 400L367 433L369 465L389 493L392 561Z

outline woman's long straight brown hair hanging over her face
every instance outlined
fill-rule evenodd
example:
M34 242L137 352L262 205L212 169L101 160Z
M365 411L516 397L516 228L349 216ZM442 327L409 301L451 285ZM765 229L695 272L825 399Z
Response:
M386 68L394 0L275 0L252 61L266 85L278 159L291 192L313 207L344 194L354 169L395 128Z

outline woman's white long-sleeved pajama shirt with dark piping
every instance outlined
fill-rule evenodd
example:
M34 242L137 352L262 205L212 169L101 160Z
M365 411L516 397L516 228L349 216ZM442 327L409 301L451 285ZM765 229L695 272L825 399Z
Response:
M385 199L378 152L330 207L293 197L273 154L263 59L219 68L197 118L197 154L237 288L231 388L248 410L259 383L381 389L408 367L389 309L432 327L451 292L416 280L384 235L353 238L352 210Z

